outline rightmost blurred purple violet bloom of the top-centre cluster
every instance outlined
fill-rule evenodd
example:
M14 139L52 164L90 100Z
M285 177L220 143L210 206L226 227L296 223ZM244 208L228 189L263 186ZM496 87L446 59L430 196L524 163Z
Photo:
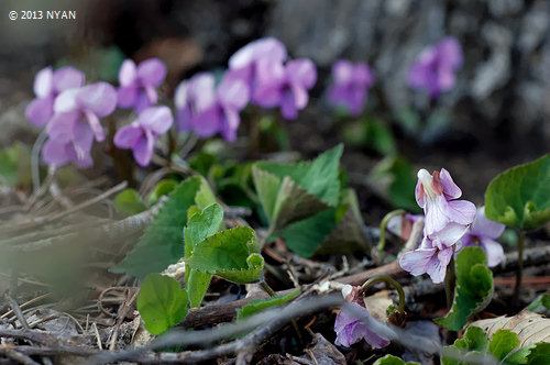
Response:
M258 84L254 102L261 107L280 107L287 120L295 120L298 110L308 103L308 91L317 81L317 69L307 58L283 66L270 60L257 63Z

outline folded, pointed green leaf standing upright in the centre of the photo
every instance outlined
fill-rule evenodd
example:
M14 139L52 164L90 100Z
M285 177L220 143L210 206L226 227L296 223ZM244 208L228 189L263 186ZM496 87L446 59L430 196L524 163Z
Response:
M337 206L341 154L339 145L312 162L254 165L254 185L272 230Z

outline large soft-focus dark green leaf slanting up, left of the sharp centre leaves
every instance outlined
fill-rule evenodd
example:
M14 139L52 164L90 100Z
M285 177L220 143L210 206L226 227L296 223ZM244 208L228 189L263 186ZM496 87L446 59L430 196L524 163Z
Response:
M134 248L111 272L143 278L176 263L185 255L183 230L187 224L187 210L195 204L205 208L212 202L216 202L213 195L202 178L190 177L180 182Z

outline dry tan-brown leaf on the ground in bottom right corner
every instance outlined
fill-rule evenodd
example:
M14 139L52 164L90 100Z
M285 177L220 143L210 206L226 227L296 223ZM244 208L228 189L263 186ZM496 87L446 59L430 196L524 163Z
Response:
M490 338L498 330L510 330L519 340L519 347L537 342L550 343L550 319L524 309L514 317L497 317L471 323L483 329Z

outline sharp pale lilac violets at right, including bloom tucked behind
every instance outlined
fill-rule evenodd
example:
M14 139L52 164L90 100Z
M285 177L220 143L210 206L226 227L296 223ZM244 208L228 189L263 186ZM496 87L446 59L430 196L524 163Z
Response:
M497 265L504 251L497 239L504 224L486 219L484 207L457 200L461 189L444 168L430 175L418 172L416 200L425 212L424 239L415 251L405 253L399 265L414 276L428 274L433 283L442 283L447 266L464 246L480 245L487 254L488 266Z

